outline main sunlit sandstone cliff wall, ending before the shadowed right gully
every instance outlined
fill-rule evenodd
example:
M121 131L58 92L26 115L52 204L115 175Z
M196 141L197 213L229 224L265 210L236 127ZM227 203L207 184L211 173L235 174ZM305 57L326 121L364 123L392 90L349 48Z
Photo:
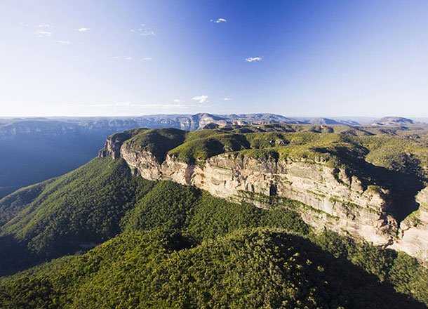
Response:
M390 244L396 222L387 215L387 192L363 190L355 176L323 162L266 160L223 154L203 166L167 156L159 164L149 152L121 148L121 157L143 178L194 185L211 195L268 207L269 200L293 199L304 220L315 228L349 232L375 244ZM279 202L280 203L280 202Z

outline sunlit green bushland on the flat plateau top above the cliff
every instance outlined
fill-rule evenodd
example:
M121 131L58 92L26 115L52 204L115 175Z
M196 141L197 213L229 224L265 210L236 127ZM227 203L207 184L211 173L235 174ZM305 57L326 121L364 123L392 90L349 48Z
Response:
M210 126L208 126L210 127ZM133 150L152 152L159 163L167 155L203 164L228 153L256 159L308 159L331 166L365 163L428 180L427 127L351 127L266 124L225 126L199 131L137 129L110 136Z

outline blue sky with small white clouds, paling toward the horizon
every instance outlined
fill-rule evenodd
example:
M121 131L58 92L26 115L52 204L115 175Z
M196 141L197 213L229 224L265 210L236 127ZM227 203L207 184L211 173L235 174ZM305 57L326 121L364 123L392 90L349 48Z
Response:
M1 0L0 117L428 117L426 0Z

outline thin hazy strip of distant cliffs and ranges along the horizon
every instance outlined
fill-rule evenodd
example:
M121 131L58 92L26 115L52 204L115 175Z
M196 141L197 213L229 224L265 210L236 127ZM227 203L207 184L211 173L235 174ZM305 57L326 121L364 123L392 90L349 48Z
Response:
M284 117L279 114L154 114L139 117L46 117L0 119L0 138L22 135L63 135L65 133L113 133L138 127L150 129L176 128L187 131L202 129L207 124L244 125L244 124L314 124L375 126L408 125L424 122L428 119L406 119L402 117L384 117L382 119L361 117Z

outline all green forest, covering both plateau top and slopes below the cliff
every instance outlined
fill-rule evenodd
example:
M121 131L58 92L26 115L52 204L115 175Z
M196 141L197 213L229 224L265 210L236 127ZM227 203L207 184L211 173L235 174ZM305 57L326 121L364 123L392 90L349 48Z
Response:
M343 164L375 184L370 190L401 185L407 195L394 191L401 201L419 188L426 166L426 150L413 147L420 142L345 128L271 125L122 134L116 138L126 147L149 150L159 162L167 153L200 163L230 152ZM405 140L388 146L391 140L377 138ZM399 161L400 154L406 159ZM414 258L334 232L315 233L297 213L303 204L242 198L268 199L272 208L144 180L121 159L109 158L23 188L0 200L0 275L14 273L0 278L0 308L428 305L428 270Z

